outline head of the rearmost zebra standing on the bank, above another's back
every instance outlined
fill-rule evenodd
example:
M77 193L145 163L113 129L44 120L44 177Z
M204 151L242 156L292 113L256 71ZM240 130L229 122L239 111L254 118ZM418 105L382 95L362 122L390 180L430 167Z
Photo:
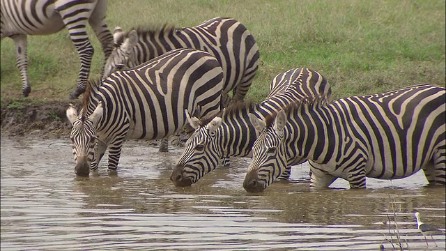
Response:
M134 68L139 63L136 59L134 47L138 43L137 31L132 30L125 34L121 27L114 29L114 45L115 48L105 61L104 73L102 79L105 79L116 70L126 70Z

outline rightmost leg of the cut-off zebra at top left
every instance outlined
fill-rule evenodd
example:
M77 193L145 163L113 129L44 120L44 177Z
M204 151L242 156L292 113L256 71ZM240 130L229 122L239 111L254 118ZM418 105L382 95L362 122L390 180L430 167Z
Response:
M98 4L96 4L95 10L93 10L93 13L91 13L89 19L90 26L95 32L96 37L102 46L105 61L107 61L114 48L112 32L110 32L110 30L107 28L107 24L105 23L106 12L107 1L98 1ZM102 76L103 73L104 67L102 66L100 75Z

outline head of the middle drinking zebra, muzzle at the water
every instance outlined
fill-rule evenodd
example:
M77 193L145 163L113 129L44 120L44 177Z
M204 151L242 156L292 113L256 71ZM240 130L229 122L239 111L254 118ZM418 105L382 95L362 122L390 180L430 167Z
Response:
M211 172L222 159L217 147L222 118L215 116L209 123L203 123L186 110L187 121L195 129L185 144L185 150L178 160L170 179L175 186L188 186L196 183L201 177Z

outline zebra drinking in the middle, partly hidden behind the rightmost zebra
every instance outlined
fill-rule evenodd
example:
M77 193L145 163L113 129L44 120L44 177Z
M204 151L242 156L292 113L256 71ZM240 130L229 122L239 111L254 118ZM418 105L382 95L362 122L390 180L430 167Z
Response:
M270 93L259 104L249 101L234 102L212 120L200 120L187 114L196 130L187 140L185 149L174 167L170 179L176 186L188 186L211 172L229 156L250 157L252 144L259 135L249 121L249 114L263 118L274 114L284 105L305 97L323 95L331 100L327 79L309 68L294 68L276 75ZM284 174L282 178L288 178Z

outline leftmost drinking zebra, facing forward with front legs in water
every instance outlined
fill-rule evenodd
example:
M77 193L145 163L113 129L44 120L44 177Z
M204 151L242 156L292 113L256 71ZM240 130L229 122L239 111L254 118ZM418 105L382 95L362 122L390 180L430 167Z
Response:
M179 49L131 70L113 73L100 84L87 82L84 105L70 105L70 139L77 176L95 172L106 149L115 174L125 139L161 139L186 122L184 110L203 118L219 112L223 71L207 52Z

